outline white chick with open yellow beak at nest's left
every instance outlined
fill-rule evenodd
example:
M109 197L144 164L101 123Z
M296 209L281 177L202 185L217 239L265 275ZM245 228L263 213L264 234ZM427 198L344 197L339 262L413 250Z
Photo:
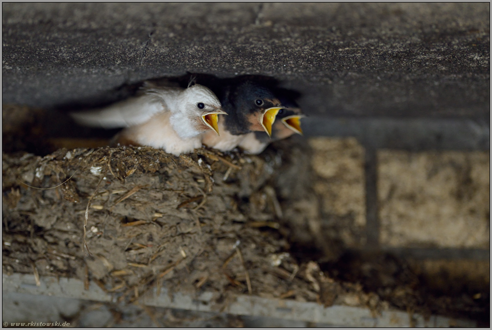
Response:
M78 123L103 128L126 127L114 143L144 145L180 155L201 147L202 133L219 134L217 115L222 111L217 96L205 86L154 87L145 94L85 113L72 113Z

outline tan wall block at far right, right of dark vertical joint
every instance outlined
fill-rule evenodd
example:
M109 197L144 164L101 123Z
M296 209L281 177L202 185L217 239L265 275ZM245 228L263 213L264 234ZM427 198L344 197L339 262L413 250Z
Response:
M489 159L488 152L378 152L381 243L488 248Z

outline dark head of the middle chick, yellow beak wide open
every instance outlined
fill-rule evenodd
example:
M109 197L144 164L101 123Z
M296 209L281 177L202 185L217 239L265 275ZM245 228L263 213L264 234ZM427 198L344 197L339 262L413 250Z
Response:
M235 123L228 125L232 134L258 131L271 135L276 116L284 107L269 87L250 80L232 85L227 98L235 115L230 118Z

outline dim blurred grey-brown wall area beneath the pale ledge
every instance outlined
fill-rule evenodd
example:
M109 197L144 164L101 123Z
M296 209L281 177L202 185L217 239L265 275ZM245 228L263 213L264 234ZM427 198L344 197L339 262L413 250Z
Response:
M2 321L9 323L68 322L70 327L236 327L261 324L262 320L258 317L251 321L246 318L243 322L239 316L226 314L17 292L2 292L2 300ZM263 318L265 321L268 322L269 318ZM299 323L305 326L306 322Z

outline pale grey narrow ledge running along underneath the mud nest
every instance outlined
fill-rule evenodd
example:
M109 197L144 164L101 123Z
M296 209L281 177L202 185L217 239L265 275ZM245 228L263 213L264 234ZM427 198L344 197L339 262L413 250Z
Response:
M77 279L56 277L41 277L38 285L34 275L2 274L2 291L18 292L34 295L48 295L64 298L78 298L101 302L114 301L115 298L105 293L95 283L90 282L88 290L84 283ZM204 292L198 297L182 293L169 294L162 288L159 295L156 290L152 295L142 297L141 302L156 307L178 308L193 311L219 312L214 306L214 293ZM422 315L409 314L397 310L383 311L373 314L368 308L335 305L323 307L313 302L298 302L293 300L268 299L257 296L238 295L234 301L226 304L223 313L258 317L273 317L293 321L314 322L319 325L330 324L338 326L357 327L474 327L475 321L452 319L432 315L425 320ZM321 324L320 324L321 323Z

